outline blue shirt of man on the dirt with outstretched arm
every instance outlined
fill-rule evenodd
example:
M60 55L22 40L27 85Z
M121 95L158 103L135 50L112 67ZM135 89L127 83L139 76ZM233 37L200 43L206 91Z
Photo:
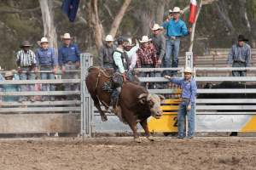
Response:
M189 99L189 103L195 102L196 96L196 82L194 78L190 78L190 80L185 81L184 78L171 78L170 82L173 82L182 88L182 98Z

